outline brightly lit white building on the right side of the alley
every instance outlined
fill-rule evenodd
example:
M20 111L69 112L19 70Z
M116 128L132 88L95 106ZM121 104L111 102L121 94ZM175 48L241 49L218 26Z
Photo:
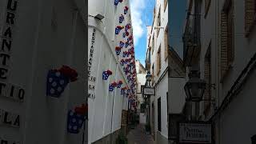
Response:
M146 70L153 75L155 96L150 98L151 133L158 143L168 142L167 92L168 92L168 2L157 0L154 22L148 27Z

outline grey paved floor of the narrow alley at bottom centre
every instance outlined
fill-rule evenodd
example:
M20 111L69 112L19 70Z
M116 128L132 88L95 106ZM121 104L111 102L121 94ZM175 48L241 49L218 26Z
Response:
M128 144L154 144L153 138L146 135L143 125L138 125L135 129L130 130L127 138Z

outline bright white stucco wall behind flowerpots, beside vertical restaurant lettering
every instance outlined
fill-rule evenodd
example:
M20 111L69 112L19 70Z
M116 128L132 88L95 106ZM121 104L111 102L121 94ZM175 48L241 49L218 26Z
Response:
M124 41L124 38L122 38L124 29L120 34L114 34L116 26L125 26L130 22L128 18L130 10L128 14L123 14L124 6L129 5L129 1L119 2L118 6L114 6L114 1L89 1L89 42L93 29L97 30L96 35L98 35L95 40L96 51L94 52L94 64L91 73L98 79L94 84L96 86L96 90L94 90L95 98L90 98L88 102L89 143L96 142L106 135L119 130L121 128L122 110L128 109L128 98L121 95L120 89L115 88L113 92L110 92L109 84L122 80L122 87L129 86L119 63L122 53L120 58L115 53L115 46L119 46L120 40ZM102 14L105 18L102 21L96 20L93 17L96 14ZM119 24L118 20L120 14L125 17L125 21L122 24ZM108 80L103 81L102 72L105 70L111 70L113 74L110 75Z

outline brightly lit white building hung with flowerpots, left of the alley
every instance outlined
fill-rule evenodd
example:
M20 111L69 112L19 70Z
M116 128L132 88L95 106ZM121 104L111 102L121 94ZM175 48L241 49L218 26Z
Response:
M129 82L127 74L123 68L127 64L134 62L132 72L136 74L134 53L123 58L123 52L128 51L133 47L133 43L123 46L120 55L116 54L116 46L120 45L120 41L126 42L127 38L132 36L132 27L127 29L129 35L123 38L123 33L126 30L124 27L118 34L115 34L117 26L131 26L130 18L130 1L118 2L117 6L114 1L90 0L89 1L89 48L94 45L94 50L89 51L89 57L92 58L89 63L90 77L97 78L95 82L90 81L89 87L94 89L89 90L89 122L88 122L88 143L110 142L114 143L122 126L126 122L122 119L127 119L128 98L135 98L132 92L125 96L121 94L121 88L127 87L131 89L133 82ZM128 7L127 14L124 14L124 9ZM119 22L119 17L123 15L123 22ZM95 41L92 42L92 36L95 34ZM131 37L130 42L133 42ZM91 52L92 51L92 52ZM123 60L130 59L130 62L122 66ZM102 80L102 73L106 70L111 70L112 75L107 80ZM109 90L109 86L113 82L122 81L121 88Z

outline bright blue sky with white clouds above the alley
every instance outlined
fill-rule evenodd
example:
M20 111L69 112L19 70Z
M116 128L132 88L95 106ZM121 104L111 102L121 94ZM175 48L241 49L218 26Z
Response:
M146 8L146 0L131 0L130 1L130 10L131 10L131 19L133 25L134 33L134 45L138 43L138 39L145 34L145 22L142 21L143 10Z

